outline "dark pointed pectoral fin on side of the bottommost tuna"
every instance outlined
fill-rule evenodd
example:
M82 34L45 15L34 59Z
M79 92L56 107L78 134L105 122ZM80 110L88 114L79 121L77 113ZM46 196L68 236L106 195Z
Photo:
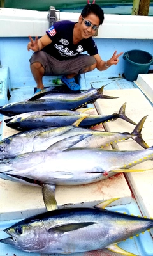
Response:
M95 222L87 222L87 223L68 223L66 225L59 225L53 228L50 228L48 230L48 232L59 232L59 233L65 233L65 232L69 232L69 231L74 231L80 228L85 228L88 227L90 225L95 224Z

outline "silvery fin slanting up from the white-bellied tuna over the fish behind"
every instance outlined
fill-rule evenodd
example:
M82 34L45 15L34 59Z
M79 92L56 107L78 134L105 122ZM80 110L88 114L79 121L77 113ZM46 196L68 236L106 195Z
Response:
M57 141L56 143L48 147L47 150L52 150L54 152L67 150L68 148L73 147L75 144L77 144L78 142L84 140L85 138L91 135L92 134L80 134L80 135L75 135L75 136L65 138L63 140Z

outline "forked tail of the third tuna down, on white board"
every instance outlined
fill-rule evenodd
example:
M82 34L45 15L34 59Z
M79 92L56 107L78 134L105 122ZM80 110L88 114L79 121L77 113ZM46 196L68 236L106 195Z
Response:
M143 124L144 124L146 118L147 118L147 116L144 116L140 120L140 122L138 122L138 124L136 125L133 132L131 132L131 136L132 136L133 140L135 140L140 146L142 146L145 149L149 148L149 145L147 145L147 143L143 140L141 132L142 132Z

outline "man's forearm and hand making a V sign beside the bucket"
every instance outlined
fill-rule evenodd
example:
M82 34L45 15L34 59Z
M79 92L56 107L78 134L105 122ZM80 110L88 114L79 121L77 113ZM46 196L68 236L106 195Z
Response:
M123 52L120 52L119 54L117 54L117 51L115 51L113 53L112 58L110 58L110 60L108 61L103 61L101 59L101 56L99 56L99 54L94 55L93 57L96 59L97 61L97 69L99 71L103 71L106 70L108 67L111 67L112 65L117 65L117 63L119 62L119 56L121 56L123 54Z

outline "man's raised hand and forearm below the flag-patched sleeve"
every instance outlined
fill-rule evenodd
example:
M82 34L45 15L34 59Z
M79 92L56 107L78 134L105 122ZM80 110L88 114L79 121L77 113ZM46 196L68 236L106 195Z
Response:
M52 40L48 37L48 35L42 36L40 39L38 39L38 36L36 36L35 41L31 36L29 36L29 44L27 44L27 50L32 50L34 52L40 51L48 44L52 43Z

